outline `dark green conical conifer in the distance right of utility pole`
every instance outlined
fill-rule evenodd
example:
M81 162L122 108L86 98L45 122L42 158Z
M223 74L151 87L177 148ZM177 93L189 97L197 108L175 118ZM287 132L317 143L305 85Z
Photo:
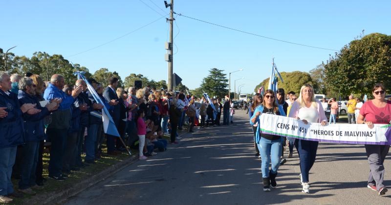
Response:
M208 93L209 96L217 96L223 98L228 93L228 79L224 70L212 68L209 70L209 75L202 80L200 88Z

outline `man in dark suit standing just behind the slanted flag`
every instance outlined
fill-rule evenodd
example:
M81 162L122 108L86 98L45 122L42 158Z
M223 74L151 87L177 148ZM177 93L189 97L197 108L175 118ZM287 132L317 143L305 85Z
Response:
M109 102L109 104L113 106L113 109L110 111L110 115L118 130L121 107L120 104L118 104L119 99L117 93L115 92L117 86L118 86L118 78L110 78L109 86L107 86L105 91L103 92L103 97L105 97L105 99ZM107 136L107 141L106 141L107 153L110 155L117 155L117 153L115 152L115 142L114 142L116 136L112 136L112 135L106 135L106 136Z

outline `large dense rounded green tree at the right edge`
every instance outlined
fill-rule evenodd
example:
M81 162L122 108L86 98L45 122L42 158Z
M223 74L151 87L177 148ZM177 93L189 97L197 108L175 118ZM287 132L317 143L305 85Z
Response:
M327 89L370 94L375 83L391 86L391 36L372 33L345 45L326 62Z

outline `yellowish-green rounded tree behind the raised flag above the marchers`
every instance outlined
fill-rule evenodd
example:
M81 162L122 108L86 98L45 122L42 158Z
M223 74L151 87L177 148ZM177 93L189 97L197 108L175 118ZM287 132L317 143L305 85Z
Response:
M279 79L278 87L283 88L285 90L285 93L289 91L299 93L300 88L304 84L311 84L314 87L317 86L317 84L312 81L311 76L307 72L293 71L293 72L281 72L280 74L284 82L281 82ZM261 86L265 87L265 89L268 89L269 78L263 80L259 85L257 85L254 91L257 92L258 88L260 88Z

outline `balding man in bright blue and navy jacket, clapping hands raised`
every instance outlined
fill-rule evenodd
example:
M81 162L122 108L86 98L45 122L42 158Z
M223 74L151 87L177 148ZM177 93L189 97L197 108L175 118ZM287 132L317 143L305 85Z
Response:
M62 169L65 142L71 121L71 104L83 89L83 85L80 85L72 91L71 96L67 96L63 91L64 84L64 77L54 74L43 93L45 100L60 102L58 110L52 114L52 122L46 129L46 135L51 141L49 177L58 181L67 178Z

